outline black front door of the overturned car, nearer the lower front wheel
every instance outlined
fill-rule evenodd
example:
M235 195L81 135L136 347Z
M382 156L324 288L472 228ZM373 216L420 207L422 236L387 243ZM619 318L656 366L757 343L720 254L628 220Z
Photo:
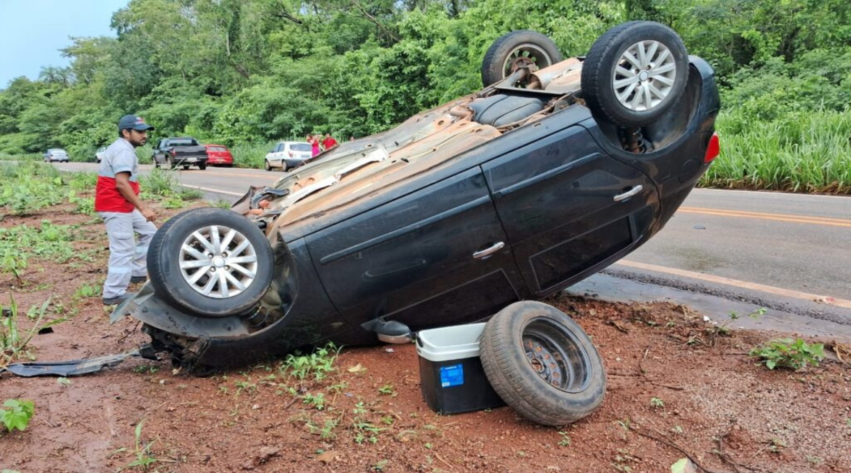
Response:
M473 168L318 231L307 245L349 322L383 317L418 330L479 320L520 299L505 238Z

